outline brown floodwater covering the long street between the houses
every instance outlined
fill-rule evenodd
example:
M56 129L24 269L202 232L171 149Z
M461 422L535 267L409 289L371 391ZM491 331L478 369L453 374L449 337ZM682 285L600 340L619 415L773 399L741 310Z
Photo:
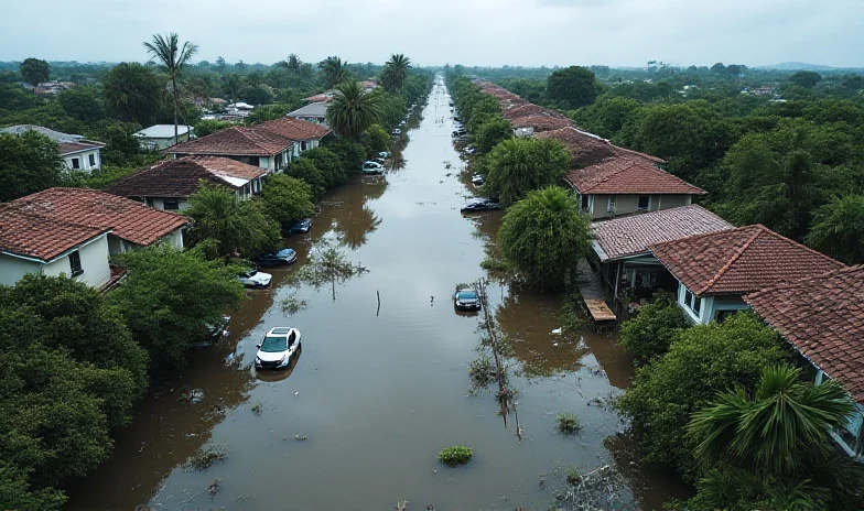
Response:
M328 194L312 231L287 240L298 263L266 270L272 289L248 292L230 336L196 351L175 382L155 384L162 390L118 432L114 457L69 488L68 509L547 509L568 468L604 464L625 477L619 509L658 509L680 494L639 469L623 423L601 404L628 384L630 358L609 335L552 335L555 296L489 283L523 442L515 417L505 427L496 414L494 387L471 392L482 316L456 314L451 295L487 276L479 263L500 213L460 215L472 191L458 173L449 100L436 85L403 130L397 170ZM337 284L335 300L330 285L288 281L325 240L368 270ZM290 296L305 302L294 315L282 307ZM256 372L255 345L273 326L300 328L302 354L288 371ZM579 415L581 433L558 433L564 411ZM204 445L224 446L227 458L184 470ZM450 445L472 447L473 460L440 465Z

